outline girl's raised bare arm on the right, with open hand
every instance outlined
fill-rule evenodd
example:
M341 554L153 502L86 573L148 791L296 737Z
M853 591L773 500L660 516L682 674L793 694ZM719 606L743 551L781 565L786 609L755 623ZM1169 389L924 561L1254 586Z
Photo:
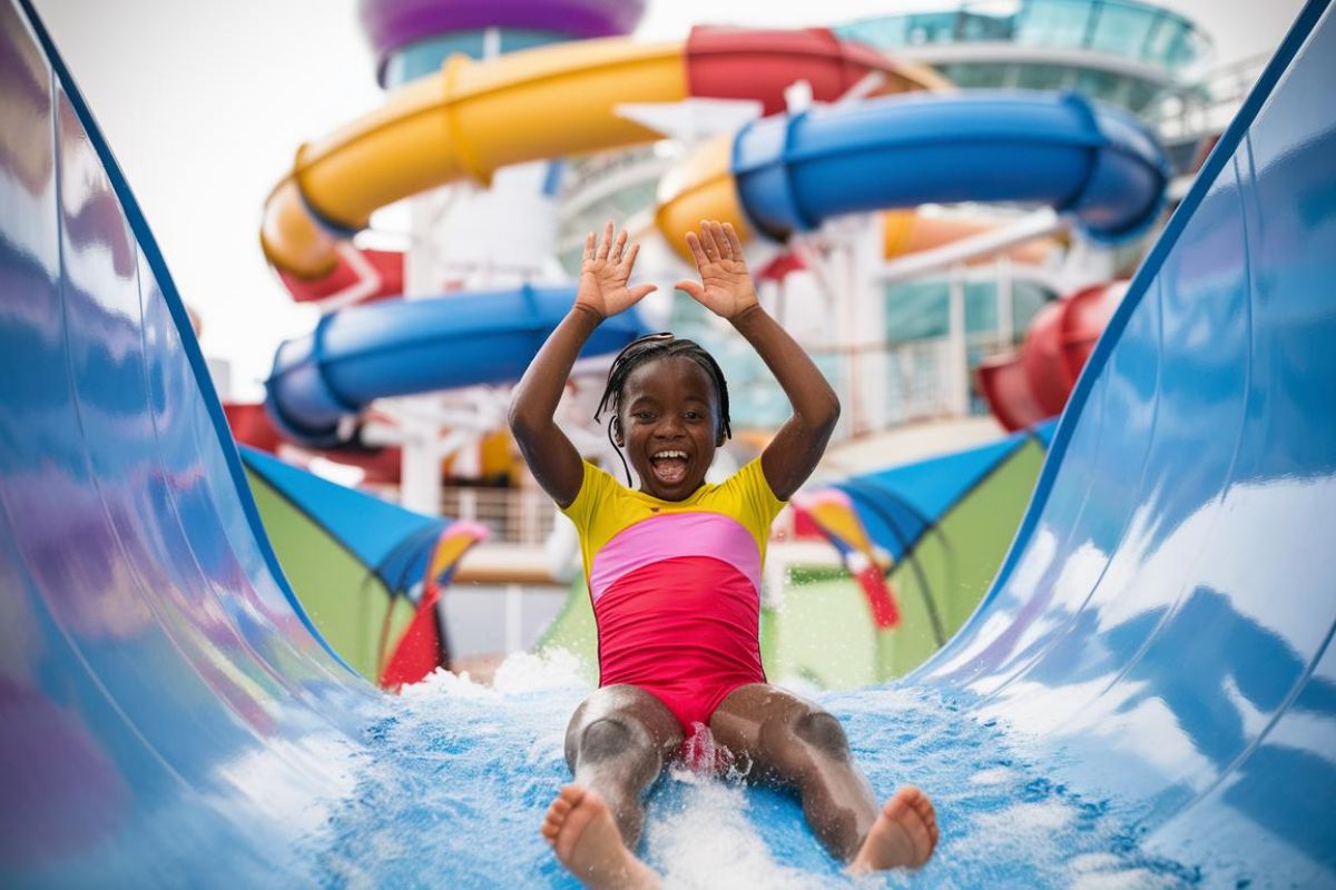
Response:
M679 282L677 288L728 319L747 338L794 406L794 416L760 456L771 490L780 500L788 500L826 451L839 420L839 398L803 347L756 300L756 287L733 227L703 221L700 235L687 234L687 246L700 270L700 282Z

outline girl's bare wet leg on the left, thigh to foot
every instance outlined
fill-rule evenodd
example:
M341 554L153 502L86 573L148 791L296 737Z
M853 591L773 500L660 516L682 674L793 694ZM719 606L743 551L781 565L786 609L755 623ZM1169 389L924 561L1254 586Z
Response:
M600 689L566 729L574 782L548 807L542 834L587 887L655 887L659 878L632 850L645 811L641 795L681 745L677 719L635 686Z

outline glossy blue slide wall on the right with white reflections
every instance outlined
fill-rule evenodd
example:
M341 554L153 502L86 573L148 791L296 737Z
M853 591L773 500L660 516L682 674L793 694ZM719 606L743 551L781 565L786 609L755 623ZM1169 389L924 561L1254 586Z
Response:
M911 681L1065 751L1210 883L1336 883L1336 12L1137 272L983 603Z

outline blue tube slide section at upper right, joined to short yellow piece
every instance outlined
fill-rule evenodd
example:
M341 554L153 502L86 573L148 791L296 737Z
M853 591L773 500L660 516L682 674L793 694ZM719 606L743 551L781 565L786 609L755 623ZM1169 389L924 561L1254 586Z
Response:
M764 117L733 140L751 223L783 240L844 213L951 201L1047 204L1092 238L1149 227L1170 168L1125 112L1075 93L886 96Z

